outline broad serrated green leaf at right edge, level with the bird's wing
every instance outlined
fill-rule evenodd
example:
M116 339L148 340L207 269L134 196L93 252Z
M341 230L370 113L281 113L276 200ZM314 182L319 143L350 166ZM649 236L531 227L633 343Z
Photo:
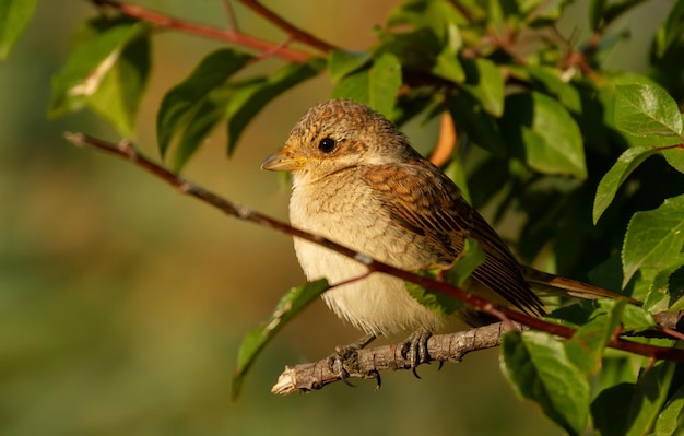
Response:
M684 195L632 216L622 250L623 287L640 268L664 270L684 246Z

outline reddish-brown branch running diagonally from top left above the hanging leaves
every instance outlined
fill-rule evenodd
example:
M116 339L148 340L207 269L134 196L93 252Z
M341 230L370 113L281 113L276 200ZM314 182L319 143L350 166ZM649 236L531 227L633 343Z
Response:
M115 9L125 15L154 24L157 27L172 28L190 35L201 36L203 38L237 44L243 47L252 48L260 52L272 52L273 55L294 62L306 62L311 58L311 55L307 52L293 50L279 44L268 43L253 36L244 34L237 28L223 30L203 24L192 23L186 20L175 19L173 16L165 15L150 9L145 9L135 4L123 3L117 0L90 1L97 7Z

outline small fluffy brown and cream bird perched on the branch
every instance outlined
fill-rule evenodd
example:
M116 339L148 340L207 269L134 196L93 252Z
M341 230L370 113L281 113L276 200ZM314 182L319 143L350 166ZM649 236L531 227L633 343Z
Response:
M331 99L311 107L261 167L292 174L293 226L393 267L448 268L470 238L481 246L484 261L461 287L493 303L543 317L544 304L533 286L618 297L519 263L456 184L413 149L397 126L364 104ZM414 299L403 280L364 276L364 264L309 240L294 237L294 248L308 280L326 278L333 285L322 294L326 304L366 333L354 346L411 333L405 343L415 367L426 357L431 334L492 322L473 309L437 314Z

